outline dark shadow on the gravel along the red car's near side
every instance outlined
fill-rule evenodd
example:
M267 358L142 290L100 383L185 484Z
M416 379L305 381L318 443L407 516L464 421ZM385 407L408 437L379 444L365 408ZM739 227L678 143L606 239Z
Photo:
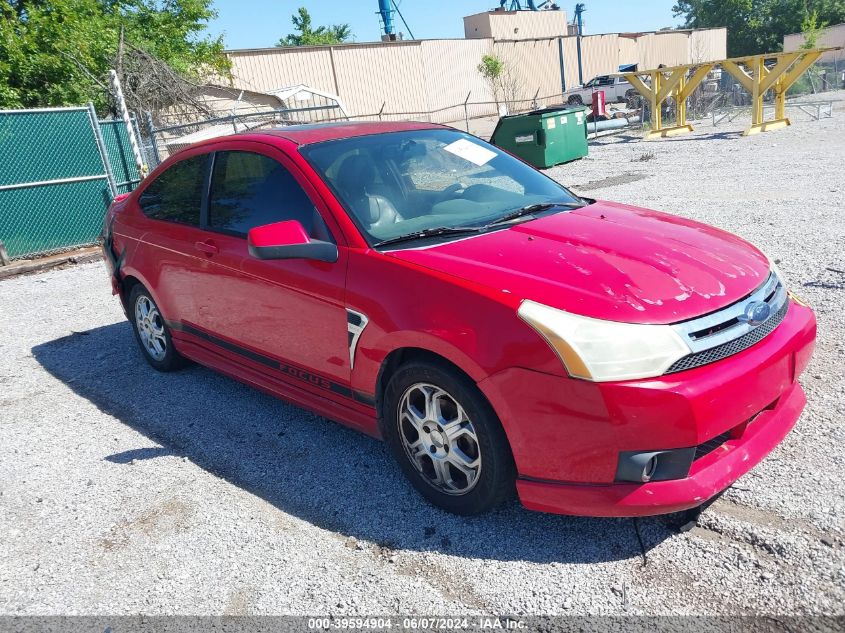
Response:
M394 549L538 563L644 552L631 519L540 514L516 501L480 517L434 508L386 445L198 365L158 373L127 322L45 342L32 353L76 394L160 446L104 451L116 464L187 457L285 513ZM639 528L645 549L674 534L660 517L641 519Z

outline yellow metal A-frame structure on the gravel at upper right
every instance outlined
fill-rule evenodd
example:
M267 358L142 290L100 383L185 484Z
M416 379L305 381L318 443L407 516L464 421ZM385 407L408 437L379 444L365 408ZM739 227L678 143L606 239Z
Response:
M687 123L687 98L716 66L720 66L751 94L751 127L743 132L743 136L749 136L788 126L786 91L822 53L839 48L734 57L701 64L637 70L614 76L625 77L648 99L652 120L651 131L645 138L655 139L692 132L692 126ZM773 61L774 65L767 67L767 61ZM773 90L775 95L775 118L766 121L763 118L763 95L769 90ZM677 121L672 127L663 127L661 106L668 97L674 98L677 104Z

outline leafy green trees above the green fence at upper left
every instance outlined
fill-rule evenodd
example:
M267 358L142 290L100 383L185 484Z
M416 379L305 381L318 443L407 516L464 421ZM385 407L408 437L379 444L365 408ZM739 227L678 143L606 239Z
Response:
M211 0L0 0L0 107L105 110L108 70L137 51L185 82L226 75L214 15Z

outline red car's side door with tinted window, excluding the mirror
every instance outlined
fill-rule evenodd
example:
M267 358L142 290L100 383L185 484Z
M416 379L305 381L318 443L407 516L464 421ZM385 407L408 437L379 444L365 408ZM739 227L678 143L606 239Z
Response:
M237 147L212 158L196 325L234 362L312 393L349 397L345 249L330 263L260 260L247 247L251 228L284 220L300 222L314 239L338 243L340 232L329 228L322 200L281 151Z

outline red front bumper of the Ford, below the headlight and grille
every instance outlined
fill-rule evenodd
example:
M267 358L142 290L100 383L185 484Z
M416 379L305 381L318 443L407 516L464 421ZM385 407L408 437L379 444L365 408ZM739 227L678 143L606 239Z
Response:
M758 464L806 402L797 378L812 354L812 310L791 303L756 345L722 361L656 379L591 383L521 368L479 386L499 414L530 509L639 516L700 505ZM683 479L615 483L619 453L730 438Z

